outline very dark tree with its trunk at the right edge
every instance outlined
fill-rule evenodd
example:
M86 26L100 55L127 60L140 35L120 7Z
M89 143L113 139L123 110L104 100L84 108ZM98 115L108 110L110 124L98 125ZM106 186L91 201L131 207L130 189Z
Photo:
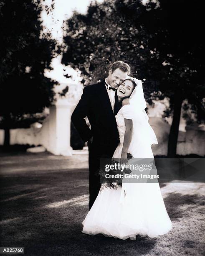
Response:
M130 1L133 2L133 1ZM147 33L152 35L148 46L157 54L159 91L170 98L173 120L168 141L168 157L177 151L182 102L187 100L197 113L199 122L205 120L205 84L203 23L204 3L186 0L160 0L160 8L152 8L142 17ZM194 18L192 18L194 17ZM152 20L152 22L150 22ZM163 66L162 66L163 65Z

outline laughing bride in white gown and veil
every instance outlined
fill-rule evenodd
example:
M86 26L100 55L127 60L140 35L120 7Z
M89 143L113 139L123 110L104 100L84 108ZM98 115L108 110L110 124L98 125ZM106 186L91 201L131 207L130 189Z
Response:
M120 164L129 163L127 153L134 159L154 159L152 144L157 138L148 123L146 102L141 80L127 77L117 89L122 108L116 115L120 143L113 158ZM154 238L172 228L160 192L155 183L126 183L122 187L101 190L83 221L83 233L132 240L137 235Z

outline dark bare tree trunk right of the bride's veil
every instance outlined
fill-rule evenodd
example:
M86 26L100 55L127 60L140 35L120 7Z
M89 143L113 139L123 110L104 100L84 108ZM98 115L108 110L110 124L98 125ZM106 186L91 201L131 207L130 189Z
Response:
M172 158L176 157L177 154L177 139L179 134L179 125L180 125L180 116L181 116L181 108L182 108L182 92L175 92L175 104L174 104L174 112L173 112L173 120L170 128L170 135L168 141L168 151L167 157Z

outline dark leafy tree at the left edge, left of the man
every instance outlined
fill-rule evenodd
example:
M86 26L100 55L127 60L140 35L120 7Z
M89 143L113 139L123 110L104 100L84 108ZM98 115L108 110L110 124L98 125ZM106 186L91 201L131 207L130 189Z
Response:
M24 114L40 113L53 101L54 81L44 77L51 69L56 41L42 32L39 1L0 2L0 116L9 145L14 122Z

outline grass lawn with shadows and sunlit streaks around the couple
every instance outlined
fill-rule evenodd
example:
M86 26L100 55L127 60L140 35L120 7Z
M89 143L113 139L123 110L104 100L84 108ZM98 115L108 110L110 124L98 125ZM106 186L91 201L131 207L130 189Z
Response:
M25 255L204 255L203 183L166 183L173 229L136 241L81 233L88 207L88 156L1 155L1 247ZM150 212L152 214L152 212Z

